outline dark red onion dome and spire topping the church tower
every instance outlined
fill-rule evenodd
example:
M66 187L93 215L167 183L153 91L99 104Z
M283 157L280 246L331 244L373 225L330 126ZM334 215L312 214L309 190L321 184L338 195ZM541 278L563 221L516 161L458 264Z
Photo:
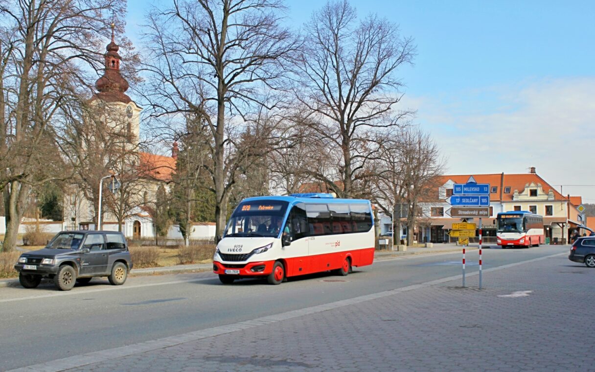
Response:
M98 93L93 96L93 99L101 99L105 102L123 102L128 104L132 101L129 96L124 94L129 85L126 79L120 74L121 57L118 54L118 46L114 41L114 27L112 25L112 39L105 47L105 72L104 76L97 79L95 87Z

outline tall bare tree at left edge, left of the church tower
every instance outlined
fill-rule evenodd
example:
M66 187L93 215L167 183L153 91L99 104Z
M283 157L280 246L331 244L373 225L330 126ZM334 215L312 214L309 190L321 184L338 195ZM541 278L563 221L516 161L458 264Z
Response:
M0 154L6 162L0 185L6 185L8 251L14 249L32 185L56 177L48 172L54 159L42 151L52 139L48 128L59 125L64 108L78 101L80 87L89 81L86 69L99 66L96 46L101 34L108 35L107 18L111 11L124 14L124 6L117 0L0 1Z

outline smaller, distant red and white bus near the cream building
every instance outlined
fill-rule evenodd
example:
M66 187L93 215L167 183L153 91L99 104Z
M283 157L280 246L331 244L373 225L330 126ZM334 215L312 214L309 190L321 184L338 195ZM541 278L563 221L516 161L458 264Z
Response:
M527 211L500 212L496 237L502 248L539 246L545 242L543 217Z

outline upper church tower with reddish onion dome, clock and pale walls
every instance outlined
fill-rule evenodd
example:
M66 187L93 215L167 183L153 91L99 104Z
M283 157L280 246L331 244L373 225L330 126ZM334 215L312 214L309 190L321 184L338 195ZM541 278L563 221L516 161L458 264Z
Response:
M120 46L115 43L114 24L112 27L111 42L105 47L104 75L97 79L95 87L98 93L93 95L92 101L105 108L106 122L109 126L126 131L130 136L131 145L136 146L140 133L139 107L128 95L128 82L120 74L121 57L118 54Z

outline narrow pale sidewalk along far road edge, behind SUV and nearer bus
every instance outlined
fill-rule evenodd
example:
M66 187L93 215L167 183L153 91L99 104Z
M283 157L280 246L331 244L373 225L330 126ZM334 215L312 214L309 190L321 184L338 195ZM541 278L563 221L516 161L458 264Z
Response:
M484 248L488 248L487 246ZM448 252L459 252L461 246L454 244L439 244L434 243L433 248L424 247L408 247L407 251L388 251L378 249L374 253L375 260L387 260L392 257L399 257L402 255L419 255L419 254L440 254ZM467 247L468 250L477 249L477 245ZM201 273L204 271L211 271L213 265L208 264L190 264L190 265L174 265L164 267L148 267L148 268L133 268L130 270L129 276L146 276L146 275L163 275L163 274L179 274L179 273ZM0 287L19 286L18 279L0 279Z

